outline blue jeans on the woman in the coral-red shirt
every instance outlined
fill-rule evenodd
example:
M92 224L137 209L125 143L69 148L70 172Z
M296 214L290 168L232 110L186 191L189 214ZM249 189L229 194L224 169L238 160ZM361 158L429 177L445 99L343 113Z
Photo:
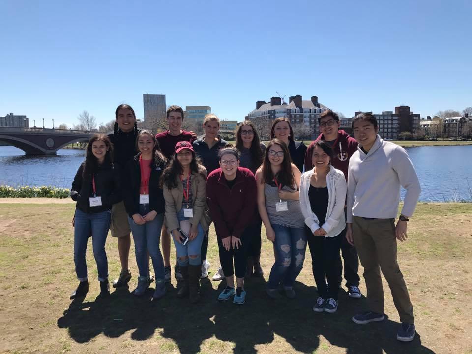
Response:
M149 205L141 205L141 215L149 212ZM164 279L164 260L162 258L159 242L161 239L161 229L164 223L164 214L157 214L154 220L147 221L144 225L135 224L128 216L129 227L133 234L136 263L138 264L139 275L149 276L148 252L154 266L156 279Z

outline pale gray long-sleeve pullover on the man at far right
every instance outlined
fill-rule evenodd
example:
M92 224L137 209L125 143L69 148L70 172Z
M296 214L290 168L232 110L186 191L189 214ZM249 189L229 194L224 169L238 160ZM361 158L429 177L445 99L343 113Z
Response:
M349 160L347 222L353 222L353 215L396 218L400 186L407 190L402 214L408 217L414 212L421 187L405 149L379 135L367 154L359 146Z

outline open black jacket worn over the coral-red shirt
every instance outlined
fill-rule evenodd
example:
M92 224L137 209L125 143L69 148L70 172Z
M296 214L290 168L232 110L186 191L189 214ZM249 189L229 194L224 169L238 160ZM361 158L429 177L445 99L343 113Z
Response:
M139 189L141 186L141 169L139 167L139 156L141 153L134 156L125 168L125 177L123 180L124 206L126 212L130 217L133 214L139 214ZM149 178L149 211L155 210L156 213L162 214L165 212L164 194L160 187L160 178L164 171L165 162L162 161L158 166L155 160L151 160L151 176Z

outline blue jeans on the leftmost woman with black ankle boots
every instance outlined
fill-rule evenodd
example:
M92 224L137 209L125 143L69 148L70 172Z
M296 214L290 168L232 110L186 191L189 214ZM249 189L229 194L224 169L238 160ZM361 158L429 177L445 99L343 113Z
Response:
M97 263L98 280L108 279L108 260L105 252L105 242L110 229L111 212L85 213L75 209L74 226L74 263L77 279L87 280L87 241L92 236L92 248L95 262Z

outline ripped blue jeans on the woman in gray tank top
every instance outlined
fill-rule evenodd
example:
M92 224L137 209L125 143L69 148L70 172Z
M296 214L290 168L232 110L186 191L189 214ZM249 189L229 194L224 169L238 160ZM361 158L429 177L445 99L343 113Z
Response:
M273 224L272 228L275 232L277 259L270 270L267 288L277 289L280 283L284 288L292 288L305 260L305 229L277 224Z

